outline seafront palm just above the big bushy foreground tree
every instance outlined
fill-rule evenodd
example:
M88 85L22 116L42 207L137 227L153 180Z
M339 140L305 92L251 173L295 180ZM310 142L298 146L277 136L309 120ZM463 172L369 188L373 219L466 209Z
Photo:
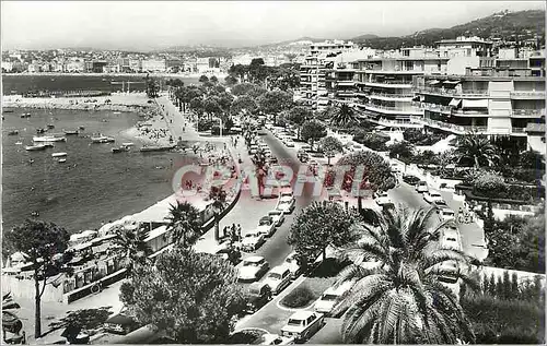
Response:
M201 218L199 211L188 202L171 205L167 230L173 242L183 248L191 248L201 237Z

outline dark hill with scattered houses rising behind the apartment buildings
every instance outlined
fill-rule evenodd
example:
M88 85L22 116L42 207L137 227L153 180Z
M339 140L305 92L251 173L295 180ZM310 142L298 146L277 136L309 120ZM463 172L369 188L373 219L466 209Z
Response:
M415 45L431 46L438 40L464 35L523 40L533 38L535 34L544 37L545 41L545 11L502 11L450 28L429 28L399 37L366 37L368 35L362 35L351 38L351 40L376 49L396 49Z

